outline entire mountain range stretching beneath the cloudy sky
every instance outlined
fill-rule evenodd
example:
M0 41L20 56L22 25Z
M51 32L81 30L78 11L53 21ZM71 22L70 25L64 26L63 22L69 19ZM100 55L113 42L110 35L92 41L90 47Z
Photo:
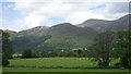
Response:
M4 30L11 35L14 52L29 48L34 51L69 50L86 48L97 34L106 30L128 30L129 16L124 15L115 21L87 20L79 25L61 23L48 26L37 26L22 32Z

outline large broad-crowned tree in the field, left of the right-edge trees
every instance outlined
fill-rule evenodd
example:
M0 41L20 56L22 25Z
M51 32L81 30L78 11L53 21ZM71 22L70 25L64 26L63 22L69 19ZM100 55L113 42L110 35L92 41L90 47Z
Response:
M110 52L115 48L116 34L114 32L105 32L98 34L94 44L88 48L88 57L95 58L98 65L108 66L110 62Z

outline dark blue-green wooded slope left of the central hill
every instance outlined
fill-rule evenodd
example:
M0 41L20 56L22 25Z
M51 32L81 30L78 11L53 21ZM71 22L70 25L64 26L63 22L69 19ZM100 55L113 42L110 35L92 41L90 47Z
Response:
M45 42L51 36L34 36L25 35L21 37L15 37L12 39L14 52L22 52L24 49L32 49L34 51L44 50L45 46L39 47L40 44ZM47 48L46 48L47 49Z

